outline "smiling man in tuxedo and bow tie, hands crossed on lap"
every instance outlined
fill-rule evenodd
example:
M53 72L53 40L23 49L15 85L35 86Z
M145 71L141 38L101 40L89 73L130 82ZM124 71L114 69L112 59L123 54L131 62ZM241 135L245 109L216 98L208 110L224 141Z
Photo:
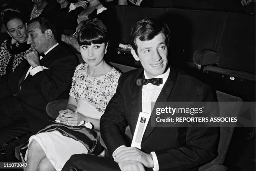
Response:
M140 112L154 118L151 102L206 102L215 99L209 86L168 65L169 28L164 23L154 19L138 21L131 36L131 53L141 61L143 68L120 77L116 93L100 120L102 139L114 161L79 154L67 161L64 171L70 168L86 171L196 171L198 166L217 154L217 127L163 127L154 125L149 119L146 130L140 132L138 129L139 133L136 133L136 127L141 124L137 123L141 120ZM210 108L205 110L209 115L216 112ZM168 115L162 113L160 117ZM128 125L133 135L131 147L123 138Z

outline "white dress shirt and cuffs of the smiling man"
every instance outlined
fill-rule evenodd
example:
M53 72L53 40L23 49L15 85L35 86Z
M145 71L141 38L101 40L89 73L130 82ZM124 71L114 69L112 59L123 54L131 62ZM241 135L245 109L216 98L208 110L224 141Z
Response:
M154 84L148 83L146 85L143 85L142 87L142 112L150 113L151 109L153 109L153 106L151 107L151 102L156 102L157 97L159 96L162 88L164 87L164 84L169 76L170 68L167 69L167 71L164 74L158 75L155 78L162 78L163 84L160 84L159 86L156 86ZM149 79L146 72L144 71L145 79ZM124 145L121 145L120 147L124 147ZM118 147L116 150L118 150L120 147ZM114 152L115 152L114 151ZM153 156L153 163L154 163L154 171L159 171L159 164L156 157L156 153L152 151L150 154Z

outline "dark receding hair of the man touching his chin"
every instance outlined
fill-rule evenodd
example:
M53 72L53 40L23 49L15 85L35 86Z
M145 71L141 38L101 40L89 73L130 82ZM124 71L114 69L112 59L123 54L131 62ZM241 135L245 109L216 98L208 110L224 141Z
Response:
M31 24L31 23L34 23L34 22L38 22L39 25L40 25L40 29L42 31L42 33L44 33L46 30L50 29L53 36L54 36L54 39L57 40L57 31L56 31L56 27L54 26L54 24L48 20L47 18L45 17L36 17L36 18L33 18L32 20L29 21L28 24Z

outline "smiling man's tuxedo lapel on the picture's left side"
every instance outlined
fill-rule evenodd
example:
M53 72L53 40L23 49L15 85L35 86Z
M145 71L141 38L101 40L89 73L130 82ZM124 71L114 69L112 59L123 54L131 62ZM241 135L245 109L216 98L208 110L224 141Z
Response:
M138 78L143 78L143 77L144 77L143 72L141 72ZM131 119L132 119L131 123L134 125L130 125L130 126L134 127L131 129L133 131L135 130L139 113L142 112L141 98L142 98L142 86L138 86L135 81L133 84L132 94L131 94Z

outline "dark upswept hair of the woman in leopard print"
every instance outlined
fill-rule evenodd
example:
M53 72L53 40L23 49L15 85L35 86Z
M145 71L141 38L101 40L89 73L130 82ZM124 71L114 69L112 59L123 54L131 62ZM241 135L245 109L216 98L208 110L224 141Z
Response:
M10 20L15 18L21 20L23 23L27 23L28 21L28 18L26 18L18 8L8 4L2 6L1 18L5 27Z

